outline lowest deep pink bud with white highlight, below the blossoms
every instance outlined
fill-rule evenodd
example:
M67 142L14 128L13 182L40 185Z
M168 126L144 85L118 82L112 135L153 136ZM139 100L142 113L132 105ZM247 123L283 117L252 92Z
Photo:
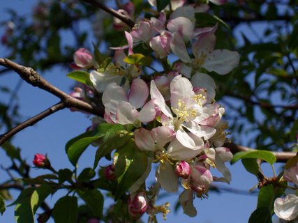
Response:
M144 191L131 194L127 201L128 212L134 218L141 217L147 210L147 196Z

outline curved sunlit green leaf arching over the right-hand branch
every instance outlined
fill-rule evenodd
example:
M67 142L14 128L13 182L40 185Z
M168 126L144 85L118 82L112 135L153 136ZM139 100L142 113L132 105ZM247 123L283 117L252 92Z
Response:
M273 155L273 153L269 151L245 151L245 152L239 152L234 155L234 157L231 160L231 164L234 164L240 159L247 159L247 158L255 158L260 160L265 160L266 162L269 162L269 164L274 164L276 162L276 157Z

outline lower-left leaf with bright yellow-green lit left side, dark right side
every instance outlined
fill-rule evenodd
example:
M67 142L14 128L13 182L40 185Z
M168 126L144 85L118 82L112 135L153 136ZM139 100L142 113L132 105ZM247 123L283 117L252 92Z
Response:
M36 213L36 210L38 209L40 204L43 203L47 196L52 194L52 192L54 192L54 190L52 189L52 187L50 187L50 185L47 184L41 185L40 187L36 188L36 190L31 195L30 201L33 215Z

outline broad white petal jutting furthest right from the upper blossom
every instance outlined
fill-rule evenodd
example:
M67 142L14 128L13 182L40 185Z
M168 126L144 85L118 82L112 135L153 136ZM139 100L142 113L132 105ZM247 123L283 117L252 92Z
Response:
M216 49L207 56L202 65L209 72L215 71L219 75L226 75L237 67L240 56L235 51L228 49Z

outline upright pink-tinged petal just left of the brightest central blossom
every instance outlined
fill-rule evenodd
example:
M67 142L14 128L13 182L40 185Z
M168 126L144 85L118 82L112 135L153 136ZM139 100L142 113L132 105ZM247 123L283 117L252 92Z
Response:
M144 80L137 78L131 83L131 89L128 93L128 102L135 108L140 108L144 105L149 95L149 89Z

